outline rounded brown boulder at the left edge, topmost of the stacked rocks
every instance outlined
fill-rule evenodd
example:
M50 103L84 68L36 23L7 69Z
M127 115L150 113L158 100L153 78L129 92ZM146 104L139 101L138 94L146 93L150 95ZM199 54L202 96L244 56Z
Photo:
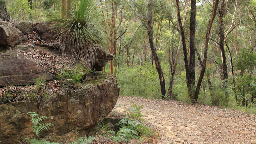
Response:
M14 28L9 22L0 20L0 45L13 47L27 41L28 39L19 29Z

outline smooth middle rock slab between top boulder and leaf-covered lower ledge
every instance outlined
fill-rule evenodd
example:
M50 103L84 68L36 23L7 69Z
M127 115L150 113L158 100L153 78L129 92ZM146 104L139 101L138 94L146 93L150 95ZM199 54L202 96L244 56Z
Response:
M53 75L45 73L45 70L38 67L34 60L12 49L0 53L0 86L34 84L38 77L52 80Z

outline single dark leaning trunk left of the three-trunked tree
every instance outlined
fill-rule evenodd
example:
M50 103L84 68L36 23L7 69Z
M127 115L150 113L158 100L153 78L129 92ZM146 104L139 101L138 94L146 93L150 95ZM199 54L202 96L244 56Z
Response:
M156 65L156 69L157 69L159 80L160 80L160 87L161 87L161 93L162 93L162 99L163 99L166 93L164 74L160 65L159 58L156 54L156 50L154 48L154 42L152 37L152 0L148 0L148 40L149 40L149 45L150 45L152 55L155 60L155 65Z

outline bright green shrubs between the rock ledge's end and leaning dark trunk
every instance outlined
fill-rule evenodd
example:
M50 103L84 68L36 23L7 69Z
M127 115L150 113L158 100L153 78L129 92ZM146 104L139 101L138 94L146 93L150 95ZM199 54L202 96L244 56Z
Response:
M162 68L166 67L163 65ZM155 65L150 63L134 67L122 65L115 69L121 95L146 98L161 97L159 77Z

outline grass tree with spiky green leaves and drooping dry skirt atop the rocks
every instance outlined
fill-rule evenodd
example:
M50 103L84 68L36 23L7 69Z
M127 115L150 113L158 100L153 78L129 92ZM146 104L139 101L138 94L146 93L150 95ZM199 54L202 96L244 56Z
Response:
M47 23L57 32L56 40L65 55L70 51L74 58L91 69L96 58L96 49L105 38L104 26L94 0L70 0L62 4L65 15L55 16Z

